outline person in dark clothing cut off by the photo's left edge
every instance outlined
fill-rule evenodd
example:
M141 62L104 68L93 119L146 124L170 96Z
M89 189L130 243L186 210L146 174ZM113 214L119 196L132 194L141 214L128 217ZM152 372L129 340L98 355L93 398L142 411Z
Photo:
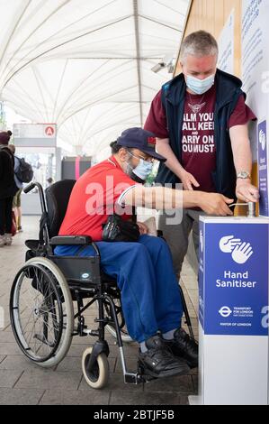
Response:
M13 196L18 190L13 153L8 148L11 135L11 131L0 133L0 247L12 244Z

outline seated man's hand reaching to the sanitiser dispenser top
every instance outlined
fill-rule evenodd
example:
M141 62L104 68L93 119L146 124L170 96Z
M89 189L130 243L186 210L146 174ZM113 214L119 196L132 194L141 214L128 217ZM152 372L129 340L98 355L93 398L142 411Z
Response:
M208 215L226 217L227 215L233 215L228 206L232 204L233 201L233 198L226 198L219 193L200 192L199 206Z

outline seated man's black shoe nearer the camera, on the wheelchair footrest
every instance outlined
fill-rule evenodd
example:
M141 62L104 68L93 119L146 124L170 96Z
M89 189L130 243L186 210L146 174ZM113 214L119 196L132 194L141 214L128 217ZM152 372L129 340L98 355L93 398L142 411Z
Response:
M186 361L175 357L167 349L161 336L152 336L146 340L148 351L139 351L139 361L146 374L153 377L168 377L169 375L184 374L190 371Z

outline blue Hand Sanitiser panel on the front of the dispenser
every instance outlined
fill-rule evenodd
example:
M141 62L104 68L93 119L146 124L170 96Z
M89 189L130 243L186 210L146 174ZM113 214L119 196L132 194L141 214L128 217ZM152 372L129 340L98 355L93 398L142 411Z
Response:
M229 220L204 227L206 263L200 274L204 333L267 336L268 224Z

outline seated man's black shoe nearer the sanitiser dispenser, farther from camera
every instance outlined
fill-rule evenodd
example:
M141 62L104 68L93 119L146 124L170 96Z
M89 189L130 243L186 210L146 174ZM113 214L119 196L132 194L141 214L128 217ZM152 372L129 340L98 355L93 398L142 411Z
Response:
M174 355L184 358L191 368L198 366L198 343L183 328L178 328L174 339L165 340L165 343Z

